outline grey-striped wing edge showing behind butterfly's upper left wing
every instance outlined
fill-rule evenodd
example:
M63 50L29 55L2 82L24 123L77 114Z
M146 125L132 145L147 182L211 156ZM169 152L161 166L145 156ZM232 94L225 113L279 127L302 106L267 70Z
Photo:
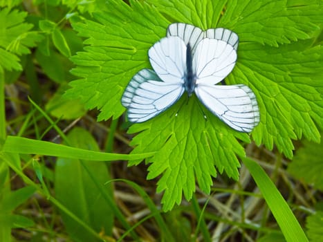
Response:
M185 42L185 46L190 43L192 52L194 53L196 45L203 39L204 32L201 28L191 24L174 23L167 28L167 37L170 36L180 37Z

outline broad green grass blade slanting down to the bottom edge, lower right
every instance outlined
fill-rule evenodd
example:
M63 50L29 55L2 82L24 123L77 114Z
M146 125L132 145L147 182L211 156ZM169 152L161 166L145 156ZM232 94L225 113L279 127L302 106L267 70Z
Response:
M295 218L290 207L284 200L282 194L279 193L277 187L264 169L250 158L241 158L243 164L246 165L250 171L251 176L257 183L261 194L263 194L264 199L270 208L270 211L275 216L276 221L281 228L286 241L288 242L305 242L308 241L302 227L299 225L297 219Z

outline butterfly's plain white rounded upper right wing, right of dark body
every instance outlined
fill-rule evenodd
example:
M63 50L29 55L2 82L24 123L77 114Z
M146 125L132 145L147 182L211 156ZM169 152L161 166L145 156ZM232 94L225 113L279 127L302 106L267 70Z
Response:
M217 84L233 69L237 51L227 42L219 39L202 39L193 56L193 70L196 84Z

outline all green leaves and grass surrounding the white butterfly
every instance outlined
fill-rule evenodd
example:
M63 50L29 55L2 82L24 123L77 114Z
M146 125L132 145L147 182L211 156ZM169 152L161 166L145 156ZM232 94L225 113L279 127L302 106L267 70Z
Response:
M125 120L172 22L237 32L252 133L195 97ZM320 241L322 26L320 0L0 0L0 241Z

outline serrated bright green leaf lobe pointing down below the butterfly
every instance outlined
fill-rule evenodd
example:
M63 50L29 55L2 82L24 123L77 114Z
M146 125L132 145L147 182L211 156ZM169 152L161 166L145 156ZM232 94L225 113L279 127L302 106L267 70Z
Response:
M181 101L187 102L187 97ZM148 160L151 166L147 178L163 174L158 181L157 192L165 190L162 200L164 210L181 203L182 191L187 200L192 198L195 178L203 192L210 193L212 176L216 177L214 165L221 174L225 171L235 180L239 177L237 168L240 165L236 155L245 156L245 153L236 137L249 142L248 136L227 129L206 109L205 120L197 102L196 97L191 97L181 110L178 111L180 102L154 120L135 124L129 129L130 133L141 131L131 141L131 145L136 146L132 153L156 151L154 158ZM137 163L129 162L129 165Z

